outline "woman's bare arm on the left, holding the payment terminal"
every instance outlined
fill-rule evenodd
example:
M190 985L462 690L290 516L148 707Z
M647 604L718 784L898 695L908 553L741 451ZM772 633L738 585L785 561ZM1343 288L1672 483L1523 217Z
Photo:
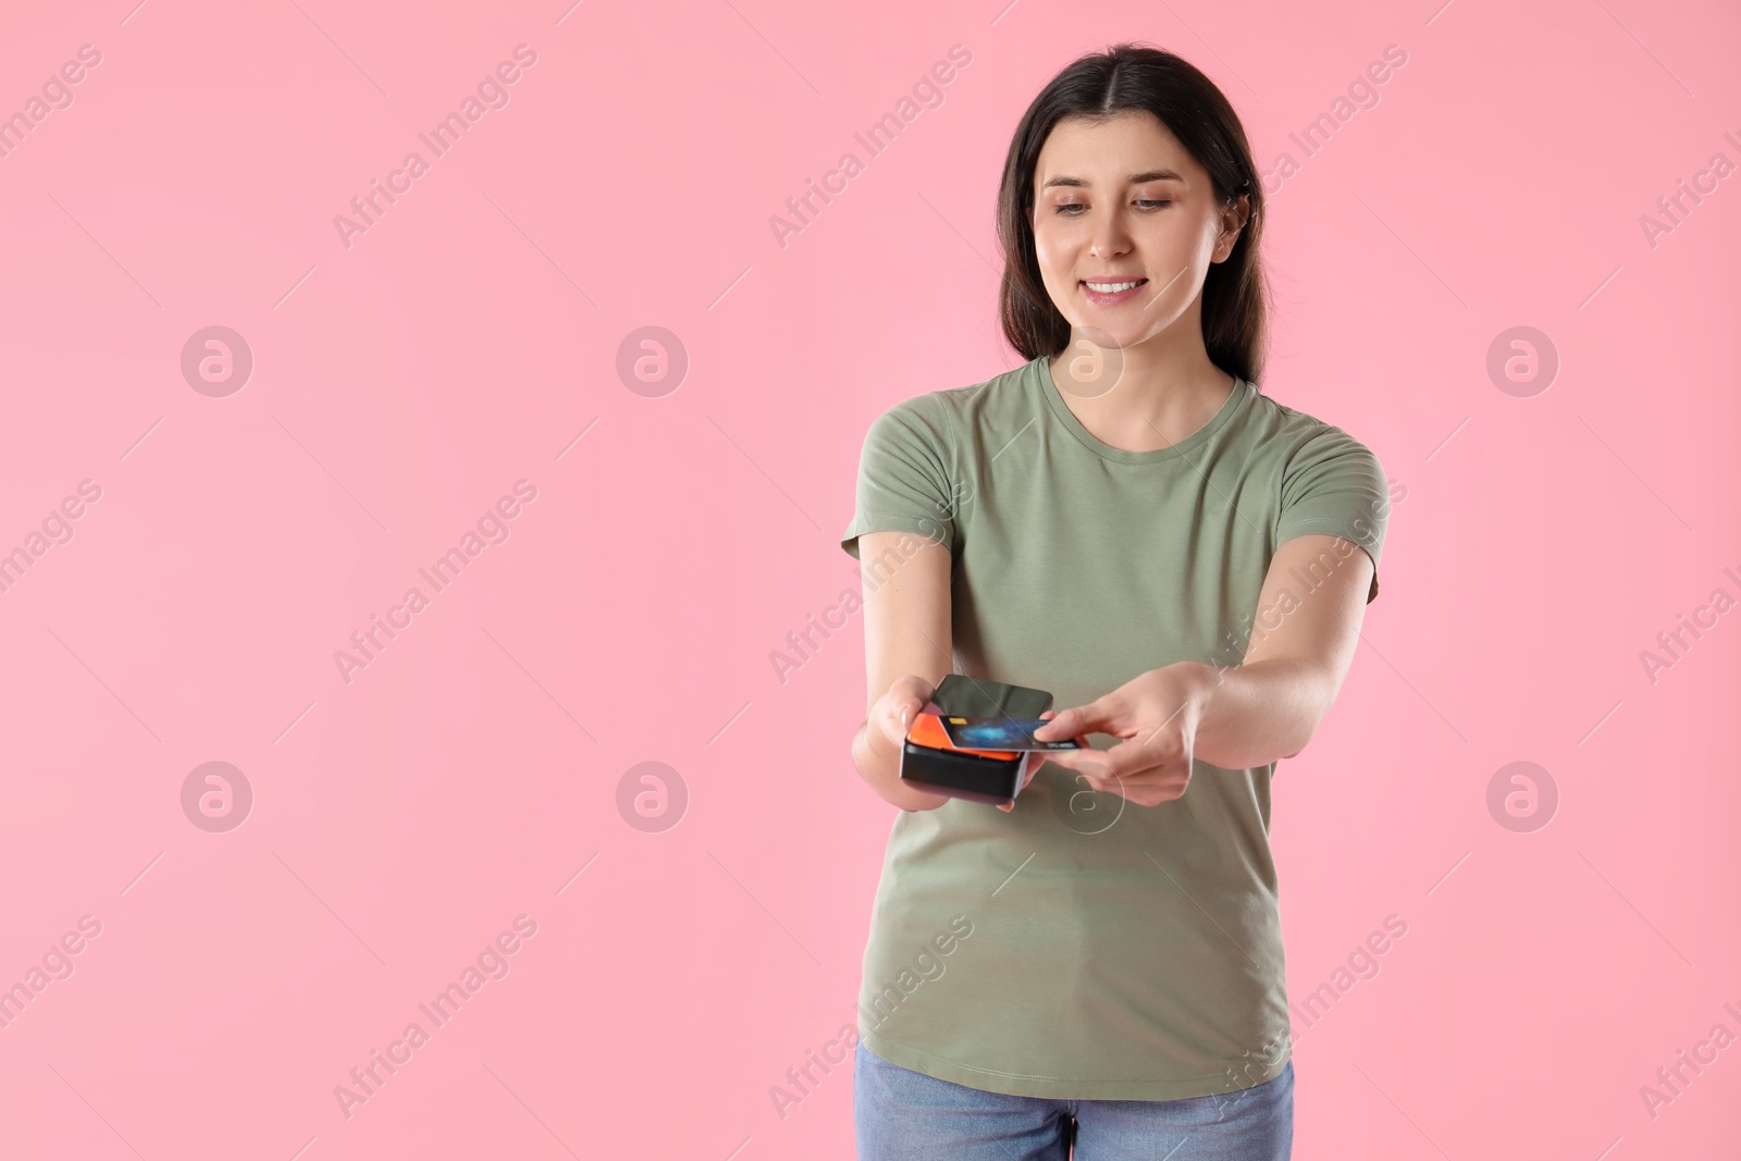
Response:
M919 541L912 555L902 538ZM869 710L853 735L853 766L883 799L904 811L937 809L949 801L900 780L900 747L912 715L954 670L949 621L949 550L916 533L864 533L858 571L865 613L865 695Z

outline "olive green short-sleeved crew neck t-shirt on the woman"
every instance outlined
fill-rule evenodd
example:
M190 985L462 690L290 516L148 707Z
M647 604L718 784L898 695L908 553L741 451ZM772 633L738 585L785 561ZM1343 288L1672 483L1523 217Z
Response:
M1365 446L1245 379L1177 444L1112 447L1041 357L877 416L841 547L858 557L860 534L890 529L940 541L954 672L1050 689L1062 710L1173 661L1238 665L1285 613L1257 609L1276 547L1328 533L1377 569L1388 494ZM918 550L902 543L865 566L867 588ZM1288 587L1304 597L1321 576ZM1374 574L1368 602L1377 590ZM1137 806L1043 762L1008 813L951 799L897 815L865 1046L1024 1097L1177 1100L1276 1077L1292 1046L1274 773L1198 761L1182 797Z

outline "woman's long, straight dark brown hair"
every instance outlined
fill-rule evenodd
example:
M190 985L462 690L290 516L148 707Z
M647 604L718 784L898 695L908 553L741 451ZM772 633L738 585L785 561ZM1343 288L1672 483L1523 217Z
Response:
M1233 252L1213 263L1203 280L1203 346L1217 367L1257 383L1264 371L1267 287L1257 249L1264 232L1264 186L1252 164L1252 146L1215 82L1184 57L1137 44L1112 45L1072 61L1039 91L1015 129L998 190L1003 334L1027 359L1057 355L1069 343L1071 324L1046 294L1034 252L1029 219L1034 165L1052 129L1065 117L1106 120L1130 110L1153 113L1179 138L1208 171L1222 205L1241 193L1250 200L1252 214Z

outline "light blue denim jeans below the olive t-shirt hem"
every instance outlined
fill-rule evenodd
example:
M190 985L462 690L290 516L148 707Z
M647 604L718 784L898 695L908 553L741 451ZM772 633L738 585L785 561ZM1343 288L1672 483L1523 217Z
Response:
M853 1053L858 1161L1288 1161L1294 1062L1255 1088L1186 1100L987 1093Z

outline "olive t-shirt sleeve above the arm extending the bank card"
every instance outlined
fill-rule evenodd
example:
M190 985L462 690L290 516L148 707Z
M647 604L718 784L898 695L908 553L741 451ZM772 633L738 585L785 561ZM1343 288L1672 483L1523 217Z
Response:
M1348 432L1325 426L1288 460L1281 475L1276 545L1295 536L1341 536L1372 557L1367 604L1379 595L1379 557L1389 524L1389 482L1379 458Z

